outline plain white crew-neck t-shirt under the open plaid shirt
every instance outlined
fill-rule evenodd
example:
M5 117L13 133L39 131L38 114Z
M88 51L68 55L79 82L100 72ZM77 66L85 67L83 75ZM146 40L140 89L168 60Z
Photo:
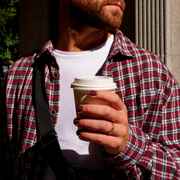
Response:
M83 166L92 170L105 168L102 159L102 147L96 143L82 141L76 135L77 127L73 124L76 118L73 89L70 88L75 77L92 76L103 66L114 36L100 46L82 52L64 52L54 49L53 53L60 67L60 107L56 131L62 153L70 164ZM45 175L53 180L55 177L48 167ZM55 179L55 178L54 178Z

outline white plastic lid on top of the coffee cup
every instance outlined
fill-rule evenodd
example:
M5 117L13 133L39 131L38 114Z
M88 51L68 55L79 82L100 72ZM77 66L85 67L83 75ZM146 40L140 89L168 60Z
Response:
M114 83L112 77L106 76L82 76L74 79L71 84L71 88L74 89L115 89L116 83Z

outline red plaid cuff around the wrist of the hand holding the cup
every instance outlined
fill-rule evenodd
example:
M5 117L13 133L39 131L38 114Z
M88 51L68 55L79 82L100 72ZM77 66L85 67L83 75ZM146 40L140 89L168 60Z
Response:
M109 165L118 166L118 169L130 169L140 164L141 160L147 155L149 137L139 128L129 126L129 139L125 149L118 155L104 153L104 159ZM105 151L105 150L104 150ZM151 153L148 153L152 157Z

